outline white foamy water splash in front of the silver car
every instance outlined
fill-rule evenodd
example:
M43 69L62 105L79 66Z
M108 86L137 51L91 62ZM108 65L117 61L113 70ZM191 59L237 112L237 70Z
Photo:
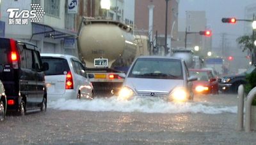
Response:
M135 97L132 100L118 100L116 97L93 100L59 99L48 102L49 108L79 111L117 111L141 113L236 113L236 106L221 106L211 102L166 102L159 98Z

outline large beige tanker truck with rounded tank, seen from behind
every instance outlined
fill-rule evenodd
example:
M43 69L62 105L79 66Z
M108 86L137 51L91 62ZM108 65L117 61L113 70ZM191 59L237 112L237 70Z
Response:
M78 32L79 58L84 62L95 94L118 92L124 74L138 54L132 28L113 20L83 18ZM101 94L100 94L101 95Z

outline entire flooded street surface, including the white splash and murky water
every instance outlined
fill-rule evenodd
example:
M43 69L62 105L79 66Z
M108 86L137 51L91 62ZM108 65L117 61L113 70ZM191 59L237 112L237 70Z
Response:
M236 131L236 95L49 101L46 113L7 116L1 144L254 144ZM20 133L23 133L22 135Z

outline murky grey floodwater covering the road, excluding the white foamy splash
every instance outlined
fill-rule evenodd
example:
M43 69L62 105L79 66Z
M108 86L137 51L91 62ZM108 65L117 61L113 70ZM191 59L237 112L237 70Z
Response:
M237 95L197 95L195 102L237 106ZM256 144L236 130L236 113L122 113L47 109L0 122L0 144Z

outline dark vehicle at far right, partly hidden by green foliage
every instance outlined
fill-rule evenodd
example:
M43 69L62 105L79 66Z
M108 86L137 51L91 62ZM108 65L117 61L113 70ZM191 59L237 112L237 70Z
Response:
M223 76L219 78L219 89L223 93L237 93L238 86L246 84L247 82L245 77L247 74L251 74L252 72L256 72L255 65L251 66L247 71L241 74Z

